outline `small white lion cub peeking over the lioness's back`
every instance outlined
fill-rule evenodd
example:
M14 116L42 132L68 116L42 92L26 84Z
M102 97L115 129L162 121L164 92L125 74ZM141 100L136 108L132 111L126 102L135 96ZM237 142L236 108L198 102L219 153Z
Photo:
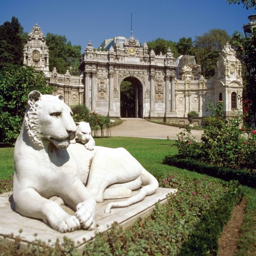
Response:
M89 123L86 122L76 122L76 138L71 140L70 143L74 144L76 142L82 143L86 149L93 150L95 147L95 141L92 138L92 130Z

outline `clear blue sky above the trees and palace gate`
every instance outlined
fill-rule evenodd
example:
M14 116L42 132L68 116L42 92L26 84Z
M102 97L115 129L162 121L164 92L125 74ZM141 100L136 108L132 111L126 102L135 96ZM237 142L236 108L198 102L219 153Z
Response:
M38 23L46 35L65 35L84 50L91 40L99 47L104 39L131 35L140 41L202 36L219 28L232 35L243 32L254 14L243 5L225 0L0 0L0 25L19 19L25 32Z

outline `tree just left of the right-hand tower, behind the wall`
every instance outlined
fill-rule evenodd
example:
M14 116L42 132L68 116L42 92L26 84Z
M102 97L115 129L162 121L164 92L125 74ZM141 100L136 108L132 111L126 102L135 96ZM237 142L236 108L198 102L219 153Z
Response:
M196 36L194 42L196 62L201 65L205 78L214 76L219 53L229 39L227 31L222 29L211 29L203 36Z

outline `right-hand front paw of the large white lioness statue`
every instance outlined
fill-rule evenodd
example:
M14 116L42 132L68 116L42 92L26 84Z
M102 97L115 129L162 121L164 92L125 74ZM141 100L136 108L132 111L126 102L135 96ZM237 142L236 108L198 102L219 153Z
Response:
M76 217L80 221L81 228L92 230L95 228L96 202L90 198L76 206Z

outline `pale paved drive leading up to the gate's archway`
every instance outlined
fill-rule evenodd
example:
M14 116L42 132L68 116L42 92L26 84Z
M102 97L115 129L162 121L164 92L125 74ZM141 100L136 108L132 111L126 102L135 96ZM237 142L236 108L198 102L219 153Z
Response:
M140 118L122 118L123 123L111 129L111 137L140 137L154 139L177 139L183 129L162 124L155 124ZM201 139L202 130L191 130L197 140Z

